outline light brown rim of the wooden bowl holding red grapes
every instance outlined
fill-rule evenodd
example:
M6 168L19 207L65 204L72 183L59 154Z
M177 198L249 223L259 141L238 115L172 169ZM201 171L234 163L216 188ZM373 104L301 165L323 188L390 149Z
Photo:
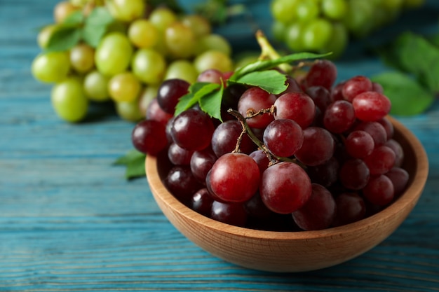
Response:
M342 233L346 234L346 232L351 233L358 232L358 230L367 230L369 228L373 228L374 225L388 221L389 218L403 210L405 207L407 207L407 205L411 204L410 209L412 209L424 190L428 176L428 158L424 146L422 146L419 139L417 139L417 137L410 130L408 130L407 127L400 123L400 121L391 116L386 116L386 118L391 121L395 130L398 130L400 133L404 133L403 136L410 144L410 148L416 149L416 151L414 151L414 155L417 164L414 169L414 177L410 178L410 186L408 186L405 192L385 209L382 209L376 214L363 218L360 221L346 225L326 228L323 230L271 231L245 228L216 221L212 218L199 214L177 200L177 198L166 189L163 183L161 183L163 188L156 188L156 183L158 181L161 182L161 178L157 172L157 158L153 155L147 155L145 159L147 181L149 183L149 187L151 188L151 192L154 194L154 197L158 196L160 200L162 200L168 206L172 205L171 208L177 211L181 216L184 216L190 221L204 225L210 230L217 230L236 236L246 238L251 237L254 239L309 240L322 237L337 237ZM155 192L152 188L154 188Z

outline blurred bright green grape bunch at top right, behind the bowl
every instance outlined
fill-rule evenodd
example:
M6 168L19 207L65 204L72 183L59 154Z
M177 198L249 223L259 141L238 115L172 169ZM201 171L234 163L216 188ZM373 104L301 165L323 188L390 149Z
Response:
M293 51L332 52L367 36L424 0L272 0L273 36Z

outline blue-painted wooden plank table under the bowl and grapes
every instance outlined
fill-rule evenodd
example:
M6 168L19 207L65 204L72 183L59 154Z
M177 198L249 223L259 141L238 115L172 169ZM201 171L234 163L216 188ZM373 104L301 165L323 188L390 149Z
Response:
M396 117L424 144L430 173L391 237L325 270L247 270L189 242L146 179L112 165L132 148L133 124L109 109L79 125L55 116L50 87L29 71L55 3L0 0L0 291L439 291L439 104ZM424 12L435 25L437 6ZM338 64L340 79L385 69L374 56Z

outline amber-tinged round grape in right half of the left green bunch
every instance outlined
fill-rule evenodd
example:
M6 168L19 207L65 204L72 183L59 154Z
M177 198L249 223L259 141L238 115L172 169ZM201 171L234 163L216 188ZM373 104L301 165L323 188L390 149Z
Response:
M182 22L174 22L165 30L168 53L175 58L189 58L194 55L195 35Z

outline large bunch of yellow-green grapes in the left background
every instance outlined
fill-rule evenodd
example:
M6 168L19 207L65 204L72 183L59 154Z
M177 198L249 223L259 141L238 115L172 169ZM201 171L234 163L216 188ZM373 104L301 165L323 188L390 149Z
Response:
M114 22L96 46L81 39L69 50L50 48L50 38L66 23L68 29L73 13L86 19L97 8ZM103 102L114 102L124 120L137 121L164 80L193 83L205 69L234 69L229 42L201 15L177 14L145 0L62 1L53 14L55 22L39 32L42 52L32 74L53 84L53 109L68 122L83 120L91 103Z

